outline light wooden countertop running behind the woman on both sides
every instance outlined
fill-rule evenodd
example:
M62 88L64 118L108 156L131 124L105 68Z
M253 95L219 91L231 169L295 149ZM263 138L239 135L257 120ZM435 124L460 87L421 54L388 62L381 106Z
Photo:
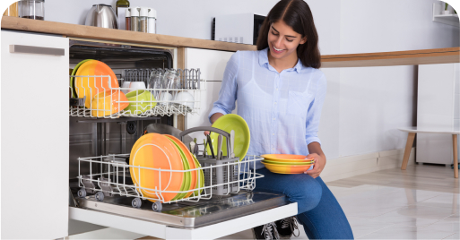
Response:
M38 21L7 16L2 18L2 29L42 32L81 39L100 39L163 47L196 47L223 51L256 50L256 46L254 45L190 39L127 30L111 30L56 21ZM321 60L322 68L460 63L460 47L350 55L325 55L321 56Z

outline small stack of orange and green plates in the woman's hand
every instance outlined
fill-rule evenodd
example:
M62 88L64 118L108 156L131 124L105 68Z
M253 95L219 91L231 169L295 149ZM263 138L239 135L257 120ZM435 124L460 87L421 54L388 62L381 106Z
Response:
M314 159L306 159L305 155L265 154L262 157L265 167L277 174L303 174L315 162Z

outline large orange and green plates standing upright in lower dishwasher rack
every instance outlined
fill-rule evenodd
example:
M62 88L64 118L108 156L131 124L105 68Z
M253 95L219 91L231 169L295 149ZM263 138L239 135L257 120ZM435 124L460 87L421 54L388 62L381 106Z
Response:
M161 202L197 196L200 191L193 190L204 186L204 173L200 169L200 163L186 145L172 135L159 133L143 135L131 150L129 165L136 166L130 167L129 170L137 187L161 191L140 189L143 195L159 199ZM156 168L161 171L141 167Z

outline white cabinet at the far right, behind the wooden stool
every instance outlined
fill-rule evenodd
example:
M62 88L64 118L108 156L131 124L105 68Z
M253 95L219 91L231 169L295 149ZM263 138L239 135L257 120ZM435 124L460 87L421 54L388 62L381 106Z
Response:
M417 127L458 128L459 96L459 64L419 65ZM452 164L452 136L418 133L416 159L421 163Z

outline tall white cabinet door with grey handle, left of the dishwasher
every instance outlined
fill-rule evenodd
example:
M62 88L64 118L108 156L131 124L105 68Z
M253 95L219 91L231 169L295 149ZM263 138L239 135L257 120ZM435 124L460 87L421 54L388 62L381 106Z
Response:
M2 238L67 236L69 41L2 30L1 47Z

